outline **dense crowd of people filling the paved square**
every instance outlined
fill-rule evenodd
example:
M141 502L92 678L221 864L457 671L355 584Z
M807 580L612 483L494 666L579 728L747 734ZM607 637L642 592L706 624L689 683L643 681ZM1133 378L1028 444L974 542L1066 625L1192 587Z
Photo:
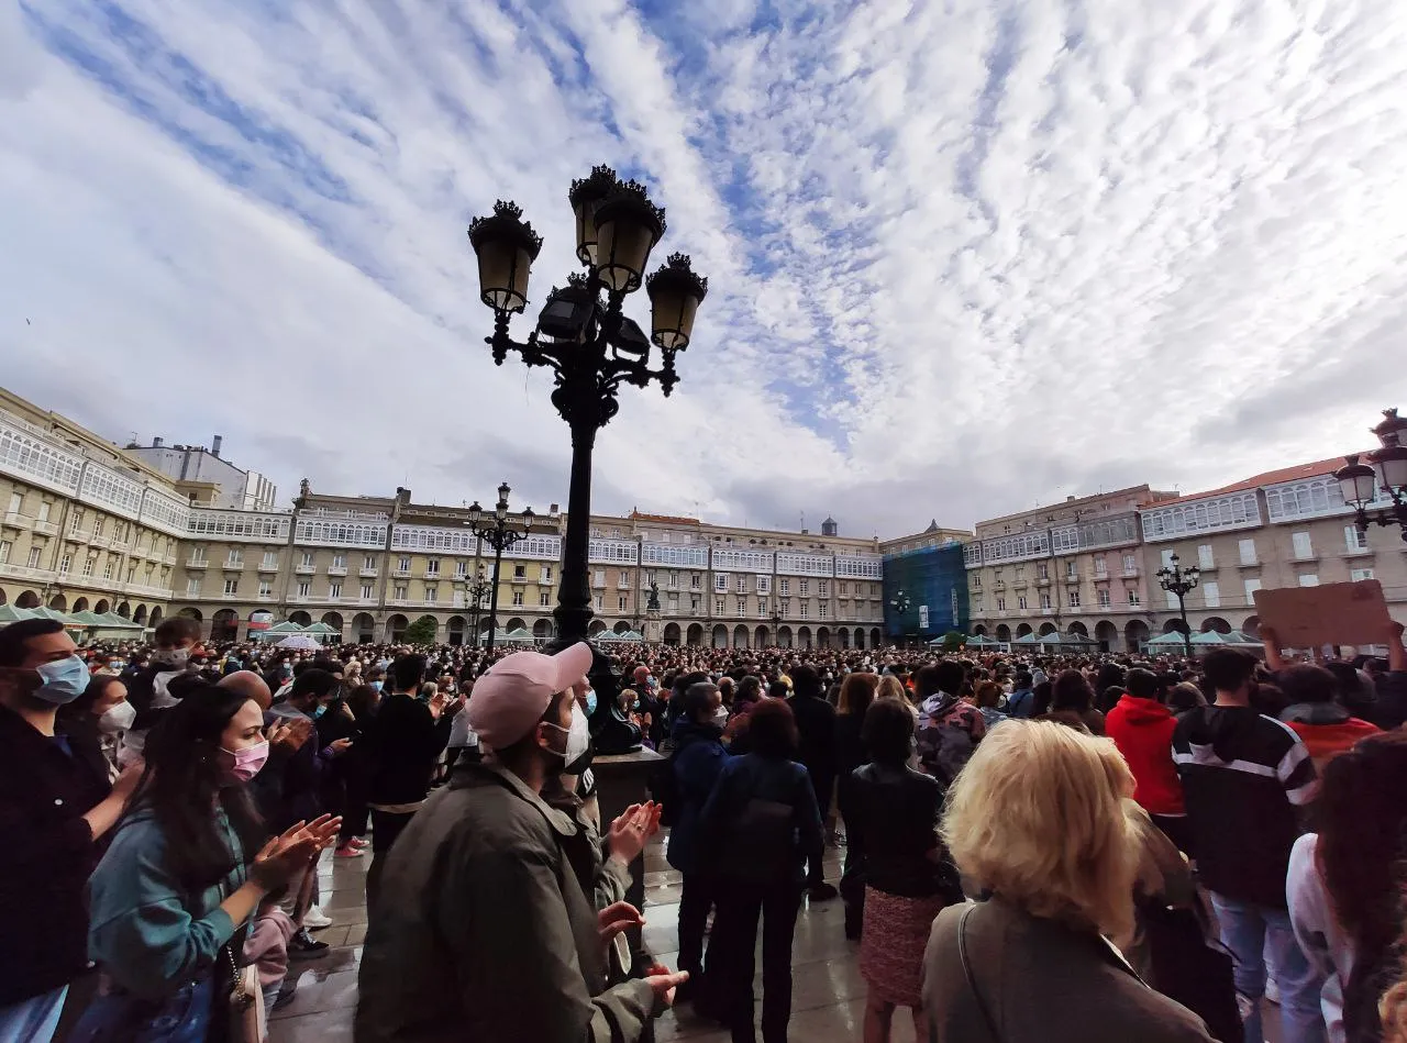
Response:
M0 1043L259 1040L370 857L356 1037L788 1037L840 901L862 1036L1407 1043L1407 650L77 649L0 629ZM1318 659L1318 657L1317 657ZM604 666L605 664L605 666ZM599 816L594 728L660 754ZM598 733L598 732L597 732ZM667 829L678 970L639 959ZM826 850L843 849L839 888ZM636 867L637 871L637 867ZM712 923L712 926L709 926ZM647 954L646 954L647 956Z

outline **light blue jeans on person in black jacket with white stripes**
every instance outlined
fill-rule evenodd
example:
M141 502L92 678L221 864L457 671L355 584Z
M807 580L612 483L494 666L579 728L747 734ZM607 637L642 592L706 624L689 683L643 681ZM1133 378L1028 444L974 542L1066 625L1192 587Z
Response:
M1324 978L1310 966L1294 940L1290 914L1238 898L1211 894L1221 928L1221 944L1235 960L1235 991L1251 1001L1245 1022L1245 1043L1263 1043L1261 998L1265 995L1265 971L1269 964L1280 988L1280 1039L1283 1043L1324 1043L1324 1012L1320 990Z

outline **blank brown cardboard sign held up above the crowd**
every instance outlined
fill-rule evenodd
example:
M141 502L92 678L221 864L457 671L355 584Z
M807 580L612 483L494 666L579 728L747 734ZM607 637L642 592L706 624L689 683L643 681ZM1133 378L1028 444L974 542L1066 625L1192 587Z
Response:
M1392 625L1377 580L1278 587L1252 597L1261 626L1275 631L1283 649L1375 645L1387 639Z

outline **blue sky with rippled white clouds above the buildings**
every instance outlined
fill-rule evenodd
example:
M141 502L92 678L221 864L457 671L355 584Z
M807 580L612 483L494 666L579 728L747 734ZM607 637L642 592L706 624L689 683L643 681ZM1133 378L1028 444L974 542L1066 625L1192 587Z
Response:
M464 229L522 204L540 303L608 162L711 291L597 510L1196 491L1407 405L1404 97L1401 0L0 0L0 383L286 495L564 504Z

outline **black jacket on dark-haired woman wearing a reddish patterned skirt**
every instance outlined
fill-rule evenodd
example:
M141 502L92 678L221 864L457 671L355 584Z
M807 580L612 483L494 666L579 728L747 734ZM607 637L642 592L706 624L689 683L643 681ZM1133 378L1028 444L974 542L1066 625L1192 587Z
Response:
M958 871L936 863L943 784L908 767L865 764L850 776L846 840L865 860L865 883L905 898L947 895L960 901Z

